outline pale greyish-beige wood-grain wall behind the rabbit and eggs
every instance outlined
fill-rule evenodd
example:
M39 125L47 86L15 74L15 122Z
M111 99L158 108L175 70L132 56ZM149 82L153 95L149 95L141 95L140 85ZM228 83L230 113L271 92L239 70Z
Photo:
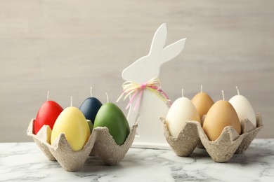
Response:
M200 92L214 101L235 85L263 116L258 138L274 137L274 2L266 1L0 1L0 142L32 141L27 125L50 99L64 108L93 95L115 102L122 70L148 54L164 22L167 43L187 37L164 64L162 89L172 101ZM118 104L124 113L125 102Z

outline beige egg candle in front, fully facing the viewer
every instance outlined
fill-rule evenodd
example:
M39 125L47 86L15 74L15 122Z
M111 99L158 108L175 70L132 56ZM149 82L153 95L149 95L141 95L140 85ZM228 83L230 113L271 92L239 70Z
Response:
M223 94L223 90L222 90ZM232 126L238 134L241 134L240 120L230 102L219 100L207 112L202 126L210 141L215 141L227 126Z

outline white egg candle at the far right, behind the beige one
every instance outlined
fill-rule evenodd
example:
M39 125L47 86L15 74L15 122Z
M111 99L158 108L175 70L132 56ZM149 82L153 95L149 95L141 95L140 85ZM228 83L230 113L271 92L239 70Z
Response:
M254 112L252 105L246 97L240 94L237 87L236 89L237 95L229 99L228 102L233 105L240 120L249 119L251 123L256 127L256 113Z

